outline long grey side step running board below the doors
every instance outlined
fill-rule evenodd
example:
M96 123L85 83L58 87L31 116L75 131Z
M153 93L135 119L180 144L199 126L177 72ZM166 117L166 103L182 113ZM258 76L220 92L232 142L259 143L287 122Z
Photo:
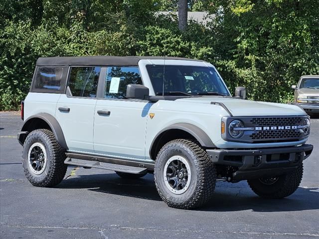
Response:
M109 170L114 170L118 172L133 173L133 174L144 174L148 170L147 168L140 168L140 167L134 167L134 166L128 166L128 165L119 165L114 163L104 163L104 162L97 162L97 161L76 159L76 158L66 158L64 163L69 165L75 165L75 166L102 168L102 169L109 169Z

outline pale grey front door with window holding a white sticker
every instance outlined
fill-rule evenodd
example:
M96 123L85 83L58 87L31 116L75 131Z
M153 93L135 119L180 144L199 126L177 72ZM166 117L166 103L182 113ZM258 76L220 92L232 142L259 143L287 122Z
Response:
M94 115L94 150L109 157L145 159L148 101L126 99L129 84L142 85L138 67L108 67L104 98Z

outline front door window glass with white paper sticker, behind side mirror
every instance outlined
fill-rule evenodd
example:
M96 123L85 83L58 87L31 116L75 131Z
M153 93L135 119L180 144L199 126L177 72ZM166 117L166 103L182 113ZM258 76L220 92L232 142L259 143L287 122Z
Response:
M108 67L104 98L126 99L129 84L143 85L138 67Z

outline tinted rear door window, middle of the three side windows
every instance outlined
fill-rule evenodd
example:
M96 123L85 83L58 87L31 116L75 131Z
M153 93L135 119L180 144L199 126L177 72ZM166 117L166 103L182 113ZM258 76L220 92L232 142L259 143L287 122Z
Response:
M95 98L101 67L71 67L68 86L72 96Z

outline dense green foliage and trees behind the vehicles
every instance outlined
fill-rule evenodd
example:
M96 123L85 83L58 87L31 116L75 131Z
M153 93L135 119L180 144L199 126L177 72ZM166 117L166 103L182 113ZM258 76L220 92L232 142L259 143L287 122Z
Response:
M0 0L0 110L18 109L40 56L155 55L203 59L231 91L288 102L319 74L319 0L188 0L204 26L155 14L178 0Z

